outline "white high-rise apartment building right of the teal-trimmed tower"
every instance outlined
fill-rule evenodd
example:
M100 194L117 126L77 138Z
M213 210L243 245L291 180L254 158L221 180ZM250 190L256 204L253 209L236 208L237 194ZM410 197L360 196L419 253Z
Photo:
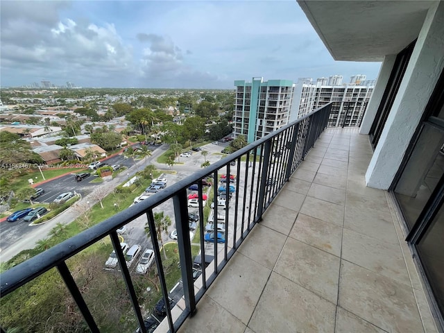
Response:
M339 82L338 77L342 81L342 76L335 77L336 82ZM330 76L330 82L334 81L332 78L333 76ZM318 79L317 84L314 84L311 78L300 78L295 88L291 121L333 102L328 126L359 126L373 93L374 80L368 81L373 83L371 85L361 85L358 78L366 76L352 76L351 80L355 80L356 83L345 85L319 85L323 78Z

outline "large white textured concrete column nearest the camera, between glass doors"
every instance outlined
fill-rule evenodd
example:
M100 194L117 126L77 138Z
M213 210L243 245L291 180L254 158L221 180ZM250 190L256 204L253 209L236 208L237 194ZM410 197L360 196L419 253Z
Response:
M366 184L388 189L444 67L444 2L422 24L404 78L366 172Z

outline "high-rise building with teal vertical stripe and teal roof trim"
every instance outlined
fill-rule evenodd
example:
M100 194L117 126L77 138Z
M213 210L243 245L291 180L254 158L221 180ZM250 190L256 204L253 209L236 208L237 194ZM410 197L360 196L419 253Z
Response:
M245 135L254 142L289 122L293 90L292 80L253 78L235 80L234 135Z

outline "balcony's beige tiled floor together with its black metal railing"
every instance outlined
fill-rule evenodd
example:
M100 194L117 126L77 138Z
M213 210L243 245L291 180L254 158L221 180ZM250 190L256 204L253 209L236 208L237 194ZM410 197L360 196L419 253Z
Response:
M145 332L146 317L115 230L146 215L167 299L153 208L172 200L185 296L167 310L155 332L218 332L221 327L257 333L433 332L397 212L386 192L365 187L372 155L368 138L357 128L324 130L330 106L2 273L1 296L56 267L90 330L100 332L66 261L109 236L136 322ZM186 189L198 183L201 198L200 179L217 179L219 172L238 175L238 190L228 198L234 219L225 214L225 243L204 244L203 209L198 209L202 257L214 255L214 262L194 282L188 223L182 223ZM216 190L212 187L214 195Z

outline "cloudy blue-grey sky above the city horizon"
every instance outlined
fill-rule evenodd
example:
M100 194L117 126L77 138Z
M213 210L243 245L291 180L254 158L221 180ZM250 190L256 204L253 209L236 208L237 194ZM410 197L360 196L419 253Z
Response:
M354 74L295 0L0 2L0 85L232 89L234 80Z

